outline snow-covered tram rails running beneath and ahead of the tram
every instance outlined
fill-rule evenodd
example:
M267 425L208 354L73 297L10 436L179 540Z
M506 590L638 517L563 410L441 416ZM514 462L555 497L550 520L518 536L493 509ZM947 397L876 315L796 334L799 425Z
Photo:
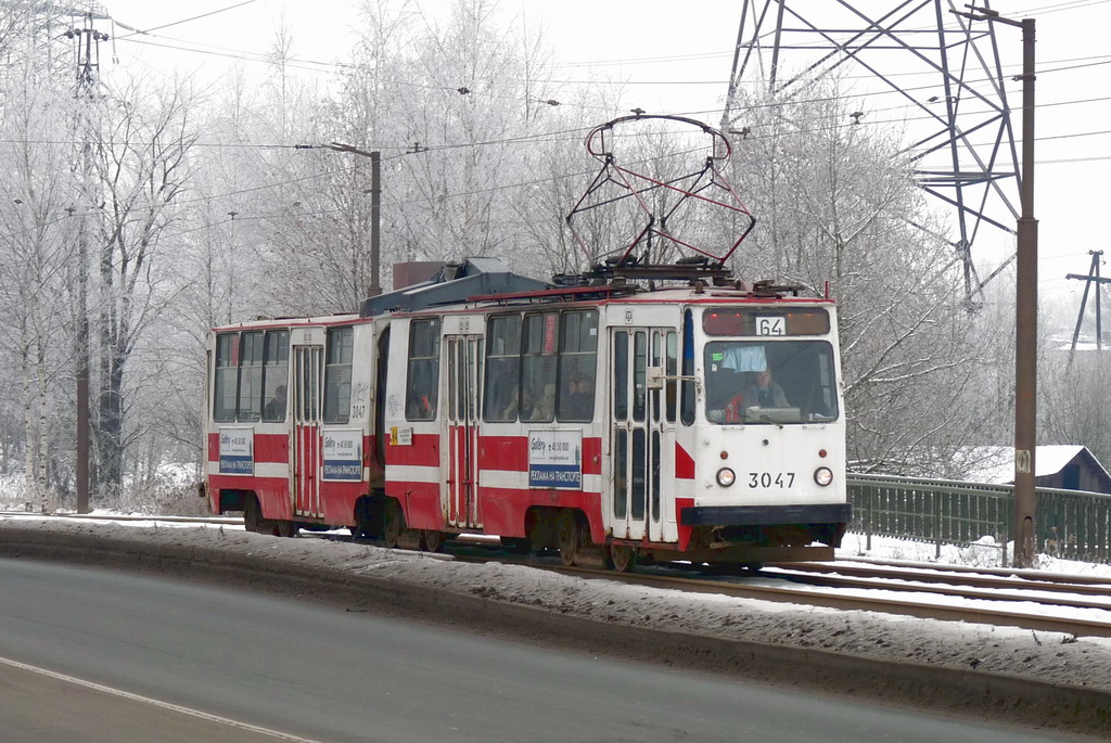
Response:
M238 519L149 516L120 514L32 514L92 521L139 521L187 524L240 524ZM306 536L351 541L334 533ZM274 538L279 539L279 538ZM360 540L361 541L361 540ZM1111 580L1060 575L1031 570L977 569L902 561L845 560L768 565L757 572L722 575L720 570L697 578L690 564L645 565L620 573L591 568L567 568L558 559L528 559L496 550L492 538L449 543L456 560L521 564L585 580L713 593L760 601L823 606L842 611L873 611L920 619L957 621L1073 636L1111 637ZM482 548L482 549L476 549Z

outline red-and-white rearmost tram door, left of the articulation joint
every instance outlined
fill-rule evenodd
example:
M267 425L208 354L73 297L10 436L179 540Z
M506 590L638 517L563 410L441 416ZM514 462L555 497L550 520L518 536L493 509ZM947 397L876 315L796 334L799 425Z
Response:
M323 345L293 347L293 513L322 516L320 385Z

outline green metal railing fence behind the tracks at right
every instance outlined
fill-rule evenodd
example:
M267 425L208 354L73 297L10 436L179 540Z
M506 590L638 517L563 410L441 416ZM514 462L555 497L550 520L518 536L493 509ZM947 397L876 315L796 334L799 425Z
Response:
M930 542L940 556L943 544L967 546L993 536L1011 539L1014 488L975 482L849 475L854 531L871 538ZM1111 495L1038 488L1034 511L1037 550L1068 560L1111 562Z

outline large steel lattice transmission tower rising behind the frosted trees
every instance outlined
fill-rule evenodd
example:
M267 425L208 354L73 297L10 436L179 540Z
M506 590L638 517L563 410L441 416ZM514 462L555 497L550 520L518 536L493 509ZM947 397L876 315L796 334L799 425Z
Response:
M978 4L990 10L988 0ZM743 127L747 84L789 101L804 98L811 81L852 78L883 93L885 120L903 116L890 113L899 100L905 123L891 125L905 127L902 154L918 184L952 214L953 233L941 237L963 264L971 310L1014 260L1009 252L981 280L972 245L982 229L1014 234L1021 172L993 24L950 12L962 10L953 0L743 0L722 128ZM865 112L851 116L859 122Z

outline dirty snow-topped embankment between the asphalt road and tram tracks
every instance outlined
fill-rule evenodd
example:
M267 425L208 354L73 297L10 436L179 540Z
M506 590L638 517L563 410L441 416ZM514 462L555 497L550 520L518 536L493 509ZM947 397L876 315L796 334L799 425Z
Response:
M859 552L851 540L847 548L845 556ZM553 644L595 654L809 680L839 693L982 707L1012 720L1018 706L1029 724L1111 731L1108 639L688 594L370 544L263 536L234 525L2 516L0 555L12 554L103 559L221 581L238 571L257 588L278 591L288 581L297 595L332 598L348 611L428 612L423 619L477 621L481 631L531 640L552 632ZM324 578L310 588L327 575L336 582ZM413 592L420 598L411 599Z

